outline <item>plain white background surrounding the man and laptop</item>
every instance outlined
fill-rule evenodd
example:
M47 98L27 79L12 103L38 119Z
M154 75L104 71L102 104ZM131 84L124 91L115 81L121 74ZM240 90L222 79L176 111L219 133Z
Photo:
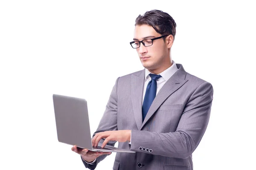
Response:
M84 169L72 146L58 142L52 94L86 98L93 133L116 78L143 69L129 42L136 17L151 9L177 23L172 59L214 88L194 169L255 168L253 4L1 0L0 169ZM114 156L97 169L110 170Z

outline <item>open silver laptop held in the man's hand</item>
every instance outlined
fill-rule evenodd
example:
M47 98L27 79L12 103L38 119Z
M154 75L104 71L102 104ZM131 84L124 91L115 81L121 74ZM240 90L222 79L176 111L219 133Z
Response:
M53 105L55 112L55 122L58 141L76 145L80 148L86 148L96 152L126 152L135 153L131 150L125 150L110 145L101 147L92 146L90 135L90 123L85 99L53 94Z

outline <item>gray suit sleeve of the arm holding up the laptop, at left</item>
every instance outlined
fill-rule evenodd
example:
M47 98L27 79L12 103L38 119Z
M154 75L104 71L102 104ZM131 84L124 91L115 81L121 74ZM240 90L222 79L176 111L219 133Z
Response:
M99 126L95 133L93 133L93 136L95 136L96 133L104 132L104 131L110 131L110 130L117 130L117 83L118 79L116 79L116 83L111 91L110 97L108 99L108 103L106 105L105 112L102 116L102 119L99 122ZM100 142L104 142L104 139L101 139ZM108 145L114 146L116 141L109 141ZM84 166L89 168L90 170L94 170L97 166L97 164L105 159L107 155L99 156L96 161L93 164L88 164L84 160Z

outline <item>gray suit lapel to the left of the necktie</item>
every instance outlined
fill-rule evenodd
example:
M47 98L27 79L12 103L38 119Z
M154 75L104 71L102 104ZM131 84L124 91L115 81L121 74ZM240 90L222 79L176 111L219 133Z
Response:
M142 125L142 96L145 81L145 69L131 75L131 102L138 129Z

